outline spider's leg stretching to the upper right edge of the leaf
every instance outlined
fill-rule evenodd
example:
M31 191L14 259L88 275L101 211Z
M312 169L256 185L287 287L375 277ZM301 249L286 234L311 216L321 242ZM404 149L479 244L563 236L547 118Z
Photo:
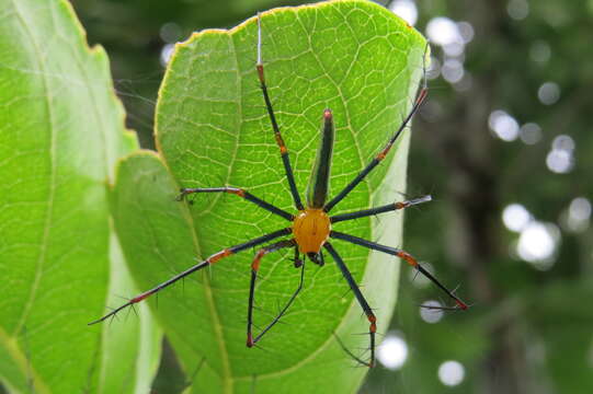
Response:
M426 55L427 48L429 48L429 44L426 44L426 47L424 48L423 61L424 61L424 57ZM418 112L418 109L420 108L420 106L422 105L424 100L426 99L426 94L429 93L429 88L426 85L426 67L425 67L425 65L423 65L423 73L424 73L424 83L422 85L422 89L418 93L418 97L417 97L417 100L414 102L414 105L412 106L412 109L410 109L410 112L408 113L408 115L403 119L403 123L401 124L401 126L396 130L396 132L391 136L389 141L387 141L387 144L370 161L370 163L368 163L363 169L363 171L361 171L358 173L358 175L356 175L356 177L351 183L349 183L346 185L346 187L344 187L342 189L342 192L340 192L335 197L333 197L333 199L331 199L328 204L326 204L326 206L323 207L323 210L326 210L326 212L329 212L335 205L338 205L338 202L340 202L342 199L344 199L344 197L347 196L347 194L350 192L352 192L352 189L354 189L354 187L356 187L366 177L366 175L368 175L387 157L387 154L391 150L391 147L394 146L396 140L399 138L399 136L406 129L406 127L408 127L408 124L412 119L412 116L414 116L414 114Z

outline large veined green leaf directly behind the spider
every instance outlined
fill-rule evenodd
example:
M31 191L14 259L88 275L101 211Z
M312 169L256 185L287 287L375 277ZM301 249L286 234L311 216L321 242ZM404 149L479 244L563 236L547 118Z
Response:
M425 42L387 10L366 1L286 8L262 16L266 80L296 182L305 189L322 111L337 127L331 189L342 188L379 151L409 111ZM179 44L160 90L157 142L164 159L142 153L122 164L115 219L130 270L145 289L206 256L289 223L230 195L174 202L179 186L232 185L294 211L255 74L256 24L205 31ZM368 208L404 192L408 134L388 160L335 212ZM385 244L401 241L401 213L340 223L340 231ZM377 309L379 332L395 304L399 262L335 241ZM305 288L262 340L246 347L250 262L242 253L160 293L153 312L199 393L353 392L365 369L356 352L368 331L333 262L306 265ZM256 288L255 324L264 326L298 283L290 255L269 255ZM367 357L367 355L365 356Z

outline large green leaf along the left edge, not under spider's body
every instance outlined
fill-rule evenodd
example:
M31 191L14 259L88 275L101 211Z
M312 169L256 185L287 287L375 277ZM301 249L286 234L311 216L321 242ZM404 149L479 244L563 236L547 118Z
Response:
M15 393L146 392L159 332L87 326L107 291L113 303L132 286L106 185L137 143L107 58L89 49L66 1L0 10L1 382Z

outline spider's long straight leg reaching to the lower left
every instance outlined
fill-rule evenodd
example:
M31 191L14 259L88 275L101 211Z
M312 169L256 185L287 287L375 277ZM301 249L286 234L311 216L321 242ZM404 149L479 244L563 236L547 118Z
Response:
M150 290L147 290L147 291L134 297L132 300L129 300L125 304L114 309L113 311L111 311L110 313L104 315L103 317L100 317L100 318L98 318L95 321L90 322L89 325L103 322L104 320L106 320L106 318L109 318L111 316L114 316L115 314L117 314L119 311L126 309L127 306L132 306L135 303L138 303L138 302L142 301L144 299L159 292L160 290L164 289L166 287L168 287L170 285L173 285L178 280L180 280L182 278L185 278L190 274L193 274L193 273L195 273L197 270L206 268L206 267L217 263L218 260L220 260L220 259L223 259L225 257L228 257L228 256L233 255L236 253L239 253L241 251L248 250L248 248L250 248L252 246L256 246L256 245L263 244L265 242L272 241L274 239L277 239L278 236L288 235L293 230L290 228L277 230L277 231L271 232L269 234L259 236L256 239L250 240L248 242L244 242L242 244L238 244L238 245L225 248L225 250L223 250L220 252L217 252L217 253L213 254L212 256L209 256L208 258L206 258L205 260L203 260L203 262L187 268L183 273L180 273L180 274L175 275L171 279L158 285L157 287L155 287L155 288L152 288Z

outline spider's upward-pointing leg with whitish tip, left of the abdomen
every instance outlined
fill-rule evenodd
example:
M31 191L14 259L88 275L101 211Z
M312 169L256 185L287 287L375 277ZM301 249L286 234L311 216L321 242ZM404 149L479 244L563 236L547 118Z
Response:
M303 210L303 202L300 201L300 195L295 183L295 175L293 173L293 167L290 166L290 158L288 157L288 149L284 143L284 139L280 132L280 127L276 121L276 116L274 115L274 108L272 107L272 102L270 101L270 95L267 94L267 86L265 85L265 78L263 73L263 62L262 62L262 22L261 16L258 13L258 77L260 78L260 88L263 93L263 100L265 101L265 108L270 115L270 121L272 123L272 129L274 130L274 138L280 148L280 153L282 158L282 163L284 164L284 171L286 172L286 178L288 179L288 186L290 187L290 194L293 195L293 200L295 207L298 210Z

